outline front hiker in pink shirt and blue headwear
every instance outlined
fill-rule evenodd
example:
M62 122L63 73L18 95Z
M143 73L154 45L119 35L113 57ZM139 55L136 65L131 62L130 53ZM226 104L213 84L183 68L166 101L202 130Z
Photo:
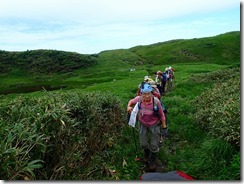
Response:
M141 85L141 96L129 100L127 112L131 113L133 106L139 103L138 121L140 146L144 150L143 161L149 169L156 169L156 155L159 151L158 141L160 138L160 126L167 129L165 116L160 101L153 97L152 87L148 83Z

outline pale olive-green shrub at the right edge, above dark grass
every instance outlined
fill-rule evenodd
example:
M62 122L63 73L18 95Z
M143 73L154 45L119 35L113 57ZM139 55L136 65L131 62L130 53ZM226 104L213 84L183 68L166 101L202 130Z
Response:
M217 83L194 102L195 123L215 137L240 147L240 75Z

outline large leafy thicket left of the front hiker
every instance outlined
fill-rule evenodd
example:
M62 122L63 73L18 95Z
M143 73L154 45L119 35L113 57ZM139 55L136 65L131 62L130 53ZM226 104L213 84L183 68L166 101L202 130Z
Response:
M120 101L110 93L51 93L2 100L0 177L92 179L91 164L120 133ZM99 176L98 176L99 177Z

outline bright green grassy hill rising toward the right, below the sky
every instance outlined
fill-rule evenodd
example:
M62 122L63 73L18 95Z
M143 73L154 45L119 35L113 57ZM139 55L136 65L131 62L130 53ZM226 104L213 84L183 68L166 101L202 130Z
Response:
M132 65L163 65L204 62L229 63L239 61L240 32L229 32L214 37L170 40L147 46L99 53L102 62L130 63Z

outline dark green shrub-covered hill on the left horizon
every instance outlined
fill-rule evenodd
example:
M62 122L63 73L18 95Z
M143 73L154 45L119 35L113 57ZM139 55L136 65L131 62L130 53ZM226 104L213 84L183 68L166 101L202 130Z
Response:
M95 63L94 55L82 55L74 52L57 50L0 51L1 73L7 73L12 69L21 69L32 75L67 73L81 67L89 67Z

